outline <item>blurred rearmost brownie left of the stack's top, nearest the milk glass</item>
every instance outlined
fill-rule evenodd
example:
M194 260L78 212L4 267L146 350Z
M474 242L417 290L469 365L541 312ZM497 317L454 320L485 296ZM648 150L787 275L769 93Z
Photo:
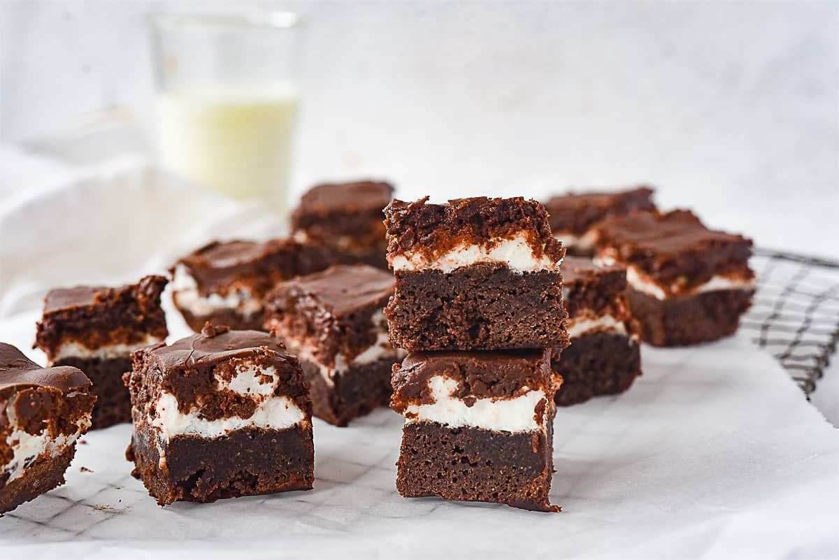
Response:
M309 189L291 215L294 236L331 247L345 264L387 268L383 210L393 186L380 181L319 184Z

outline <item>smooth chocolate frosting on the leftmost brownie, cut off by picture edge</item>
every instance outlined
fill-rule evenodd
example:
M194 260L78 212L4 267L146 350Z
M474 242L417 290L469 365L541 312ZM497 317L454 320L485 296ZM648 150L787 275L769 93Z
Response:
M41 367L23 352L0 342L0 393L27 387L53 387L63 393L85 389L91 380L76 367Z

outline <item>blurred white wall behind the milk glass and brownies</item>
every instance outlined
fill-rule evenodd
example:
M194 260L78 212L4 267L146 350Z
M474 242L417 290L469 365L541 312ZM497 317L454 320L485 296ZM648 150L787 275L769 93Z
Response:
M308 21L297 191L650 182L760 245L839 256L835 1L256 5ZM154 122L144 16L196 6L0 0L3 140L107 106Z

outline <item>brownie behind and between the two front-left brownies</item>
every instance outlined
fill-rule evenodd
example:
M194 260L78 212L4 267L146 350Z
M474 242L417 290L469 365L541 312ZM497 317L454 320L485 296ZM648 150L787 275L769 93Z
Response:
M157 344L168 334L160 294L168 280L143 277L119 288L78 286L50 290L35 346L48 366L74 366L93 382L93 428L131 422L131 399L122 374L133 350Z

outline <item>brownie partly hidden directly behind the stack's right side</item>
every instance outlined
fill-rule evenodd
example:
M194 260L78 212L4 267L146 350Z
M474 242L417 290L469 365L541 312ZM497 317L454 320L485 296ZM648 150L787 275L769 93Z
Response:
M629 330L626 269L565 257L562 277L571 345L551 361L563 380L556 403L626 391L641 375L640 348Z

